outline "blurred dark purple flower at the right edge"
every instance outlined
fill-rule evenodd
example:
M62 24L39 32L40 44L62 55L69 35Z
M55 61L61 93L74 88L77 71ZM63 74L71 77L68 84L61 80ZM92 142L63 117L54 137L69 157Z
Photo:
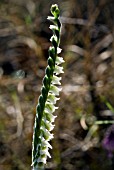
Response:
M103 139L103 147L108 151L109 157L112 157L114 152L114 125L108 128Z

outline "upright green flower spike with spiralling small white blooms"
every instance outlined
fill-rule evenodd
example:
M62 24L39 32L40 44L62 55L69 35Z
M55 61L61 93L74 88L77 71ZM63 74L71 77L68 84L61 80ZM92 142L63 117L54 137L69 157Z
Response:
M54 128L54 120L56 118L53 112L57 109L55 104L59 100L58 96L61 91L59 86L61 85L60 74L63 73L63 67L60 64L64 60L58 56L61 52L59 48L61 23L59 20L60 11L56 4L51 6L51 13L53 16L49 16L48 20L53 23L53 25L50 25L50 29L53 31L50 39L52 46L49 48L48 65L45 70L41 95L39 96L36 107L32 142L33 170L44 169L47 157L51 157L49 148L51 149L52 146L49 144L49 141L53 138L51 131Z

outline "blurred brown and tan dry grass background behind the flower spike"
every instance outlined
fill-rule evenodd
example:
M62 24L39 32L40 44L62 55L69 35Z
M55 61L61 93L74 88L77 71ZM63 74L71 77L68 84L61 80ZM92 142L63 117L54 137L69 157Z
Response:
M0 170L30 170L35 108L61 10L61 100L48 170L112 170L102 148L114 119L114 1L0 0Z

